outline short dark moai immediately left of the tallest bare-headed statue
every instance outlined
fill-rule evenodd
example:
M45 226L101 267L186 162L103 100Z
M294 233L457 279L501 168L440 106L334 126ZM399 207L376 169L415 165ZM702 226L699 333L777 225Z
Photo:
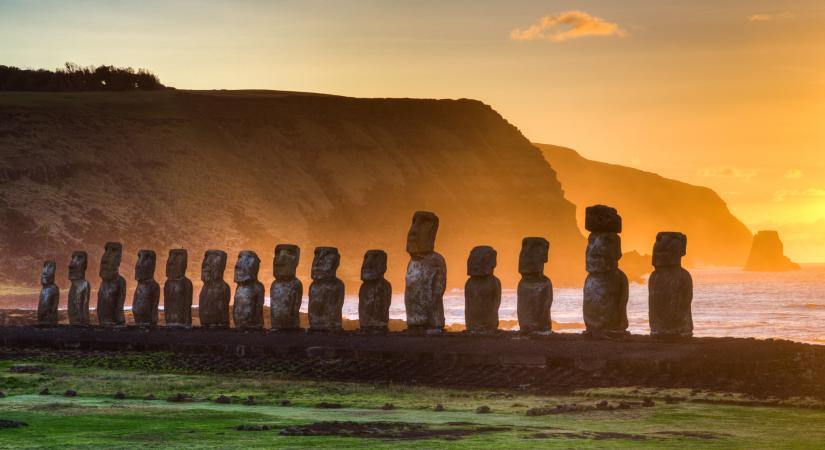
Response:
M384 279L387 253L367 250L361 265L361 289L358 290L358 322L361 331L386 332L390 322L392 285Z

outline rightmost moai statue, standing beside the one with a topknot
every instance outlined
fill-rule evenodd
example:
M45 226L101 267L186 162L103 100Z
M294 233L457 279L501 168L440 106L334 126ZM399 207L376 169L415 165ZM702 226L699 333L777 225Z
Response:
M682 268L687 253L687 236L676 232L656 235L653 246L655 270L648 280L650 335L693 336L693 278Z

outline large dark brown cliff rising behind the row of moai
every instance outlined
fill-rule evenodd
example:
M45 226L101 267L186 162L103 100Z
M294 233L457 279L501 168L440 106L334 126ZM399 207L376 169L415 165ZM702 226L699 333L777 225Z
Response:
M188 248L199 278L208 248L252 249L272 280L278 243L341 250L340 277L360 285L366 250L389 254L403 289L415 210L441 218L436 250L450 287L470 249L492 245L505 287L518 280L521 239L551 242L549 274L583 279L575 207L519 131L472 100L354 99L266 92L0 94L0 256L7 283L33 285L72 250L97 273L103 243ZM158 261L159 265L164 264ZM308 279L304 257L298 275ZM94 286L96 277L89 279Z

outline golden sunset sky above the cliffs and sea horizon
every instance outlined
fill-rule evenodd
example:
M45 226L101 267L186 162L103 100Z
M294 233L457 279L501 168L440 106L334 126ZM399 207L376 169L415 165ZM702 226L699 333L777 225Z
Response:
M711 187L825 262L825 1L0 0L0 64L182 89L475 98L534 142Z

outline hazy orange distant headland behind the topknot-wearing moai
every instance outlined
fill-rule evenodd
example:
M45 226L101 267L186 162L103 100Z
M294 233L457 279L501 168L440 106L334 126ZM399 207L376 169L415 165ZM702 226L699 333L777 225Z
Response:
M741 267L752 235L711 189L630 167L591 161L575 151L536 144L558 173L567 199L583 209L604 203L624 219L622 250L649 254L659 231L688 236L685 265Z

